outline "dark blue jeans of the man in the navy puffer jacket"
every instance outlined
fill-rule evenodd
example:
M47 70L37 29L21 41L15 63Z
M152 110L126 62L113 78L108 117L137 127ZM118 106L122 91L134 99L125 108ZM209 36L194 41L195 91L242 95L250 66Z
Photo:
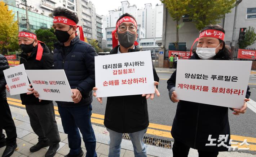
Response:
M91 123L92 105L62 107L58 104L64 132L69 140L70 154L79 154L81 149L81 134L86 148L85 157L97 157L96 139Z

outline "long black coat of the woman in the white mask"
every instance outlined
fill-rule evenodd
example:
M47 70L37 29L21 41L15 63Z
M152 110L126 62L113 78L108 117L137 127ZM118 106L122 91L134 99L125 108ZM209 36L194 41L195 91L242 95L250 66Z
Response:
M200 60L198 55L194 55L191 60ZM223 57L214 58L215 60L225 60ZM176 83L176 71L167 81L169 96L171 96L173 87ZM249 87L247 87L246 98L250 97ZM220 142L214 141L216 146L206 146L209 135L212 139L219 139L219 135L229 135L228 141L224 142L229 145L230 128L228 119L229 108L215 105L194 103L180 100L177 105L176 115L173 120L171 134L172 137L190 148L202 151L228 151L228 148L217 145Z

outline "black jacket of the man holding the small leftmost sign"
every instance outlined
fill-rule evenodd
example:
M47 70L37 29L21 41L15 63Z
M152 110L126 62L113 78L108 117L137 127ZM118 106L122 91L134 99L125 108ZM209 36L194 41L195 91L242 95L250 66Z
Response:
M32 51L30 56L27 56L26 53L19 54L20 62L19 64L24 64L25 70L52 70L53 69L53 55L50 54L49 48L41 43L43 47L43 55L40 61L36 60L37 46ZM21 102L23 105L36 105L36 104L49 104L50 100L42 100L39 102L39 99L36 98L33 94L27 95L23 93L21 96Z

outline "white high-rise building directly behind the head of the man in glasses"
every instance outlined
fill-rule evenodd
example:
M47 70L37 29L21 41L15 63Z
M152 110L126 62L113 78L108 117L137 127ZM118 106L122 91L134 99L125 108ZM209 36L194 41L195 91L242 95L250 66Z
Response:
M121 6L118 9L110 10L109 15L102 17L103 22L103 39L107 40L107 47L110 48L110 30L114 30L116 21L124 13L129 13L136 18L137 24L140 25L139 29L139 40L141 38L148 38L147 41L155 43L157 40L162 40L163 32L163 4L156 5L155 8L152 4L145 4L144 9L138 9L136 5L130 5L128 1L121 1ZM112 36L111 36L112 38ZM161 38L161 39L159 39ZM144 48L143 48L144 49ZM155 47L155 49L158 49Z

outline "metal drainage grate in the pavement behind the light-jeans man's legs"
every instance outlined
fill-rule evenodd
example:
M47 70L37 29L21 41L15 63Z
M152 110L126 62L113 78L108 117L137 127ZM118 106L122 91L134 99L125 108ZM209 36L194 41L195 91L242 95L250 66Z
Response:
M128 133L123 134L123 139L131 141L131 137L129 136ZM144 136L143 142L151 146L157 146L157 147L168 148L168 149L171 149L171 145L172 145L170 140L149 137L149 136Z

